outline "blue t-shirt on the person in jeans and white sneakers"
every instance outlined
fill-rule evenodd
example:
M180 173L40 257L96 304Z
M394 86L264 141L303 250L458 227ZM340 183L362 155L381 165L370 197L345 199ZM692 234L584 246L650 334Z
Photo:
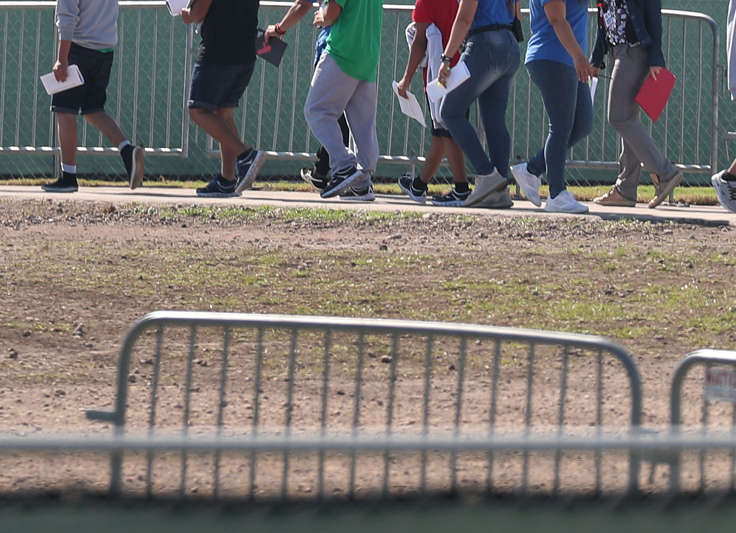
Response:
M553 0L529 0L531 10L531 37L526 47L526 60L528 63L534 60L550 60L565 65L575 66L573 57L567 53L565 46L559 42L545 13L545 4ZM573 29L575 39L578 41L583 53L588 53L588 2L587 0L562 0L565 2L567 22Z

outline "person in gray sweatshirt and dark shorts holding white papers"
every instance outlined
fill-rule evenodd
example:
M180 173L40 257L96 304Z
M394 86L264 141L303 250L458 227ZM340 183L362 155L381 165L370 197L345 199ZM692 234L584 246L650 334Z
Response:
M84 85L56 93L52 97L52 112L56 113L61 146L61 177L41 185L49 193L74 193L77 184L77 115L95 126L118 147L131 189L143 181L143 147L133 146L105 112L107 85L113 68L115 46L118 43L118 3L100 0L59 0L56 5L56 26L59 29L59 49L54 64L54 78L64 82L69 65L77 65Z

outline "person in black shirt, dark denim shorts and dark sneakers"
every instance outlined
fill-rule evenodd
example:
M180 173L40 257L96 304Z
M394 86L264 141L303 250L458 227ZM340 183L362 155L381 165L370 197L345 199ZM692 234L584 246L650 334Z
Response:
M202 23L202 42L189 88L189 116L220 143L220 172L197 196L240 196L266 160L240 140L233 118L255 68L258 0L194 0L184 24Z

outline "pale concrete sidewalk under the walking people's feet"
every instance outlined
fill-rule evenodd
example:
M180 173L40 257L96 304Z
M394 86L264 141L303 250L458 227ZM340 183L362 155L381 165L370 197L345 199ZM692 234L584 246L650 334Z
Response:
M603 207L592 203L587 215L566 215L547 213L541 207L534 207L526 200L515 200L514 207L506 210L474 209L473 207L436 207L431 204L417 204L406 196L377 195L373 202L343 201L338 198L323 200L317 193L277 192L266 190L247 190L237 198L199 198L194 189L168 187L139 187L130 190L127 187L81 187L78 193L54 194L46 193L40 187L3 186L0 187L0 201L24 198L51 199L53 201L98 201L113 204L214 204L226 206L254 207L271 205L274 207L313 207L343 210L374 211L415 211L467 213L472 215L507 215L507 216L584 216L604 220L622 218L641 221L674 221L693 223L702 226L736 226L736 214L726 212L720 206L670 207L662 204L657 209L649 209L645 204L637 207ZM542 204L543 205L543 204Z

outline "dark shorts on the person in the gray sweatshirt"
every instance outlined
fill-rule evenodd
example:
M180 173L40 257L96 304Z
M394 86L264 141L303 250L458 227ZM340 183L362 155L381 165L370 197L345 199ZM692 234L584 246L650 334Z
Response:
M71 43L69 65L77 65L85 85L56 93L51 100L51 110L55 113L90 115L105 111L107 85L113 68L114 52L102 52Z

